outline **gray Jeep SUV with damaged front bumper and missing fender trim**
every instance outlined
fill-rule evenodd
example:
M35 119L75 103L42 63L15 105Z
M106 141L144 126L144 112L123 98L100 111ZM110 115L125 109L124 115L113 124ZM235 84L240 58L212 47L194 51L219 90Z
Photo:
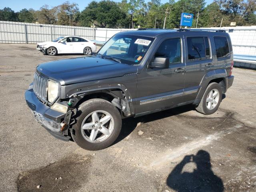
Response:
M232 68L222 30L120 32L93 56L38 65L25 98L50 134L100 150L116 140L122 118L186 104L213 114L233 83Z

